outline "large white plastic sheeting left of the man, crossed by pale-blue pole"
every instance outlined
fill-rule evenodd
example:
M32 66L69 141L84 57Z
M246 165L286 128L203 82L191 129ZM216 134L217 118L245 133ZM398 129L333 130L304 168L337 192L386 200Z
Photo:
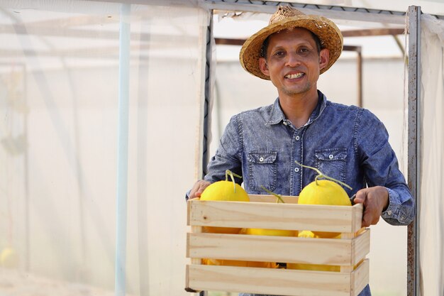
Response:
M0 1L0 295L113 295L120 9ZM209 11L129 21L126 293L187 295Z

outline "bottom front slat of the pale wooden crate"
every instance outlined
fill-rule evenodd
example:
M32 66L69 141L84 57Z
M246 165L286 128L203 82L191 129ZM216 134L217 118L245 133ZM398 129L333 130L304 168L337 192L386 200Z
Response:
M368 264L352 273L188 265L187 288L289 296L350 296L368 283ZM352 282L356 283L355 285Z

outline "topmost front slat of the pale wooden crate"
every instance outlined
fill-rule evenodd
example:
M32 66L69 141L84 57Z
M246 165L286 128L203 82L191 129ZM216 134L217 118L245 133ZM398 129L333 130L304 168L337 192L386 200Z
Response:
M188 224L239 228L355 232L362 204L353 207L271 202L189 201ZM353 223L352 223L353 221Z

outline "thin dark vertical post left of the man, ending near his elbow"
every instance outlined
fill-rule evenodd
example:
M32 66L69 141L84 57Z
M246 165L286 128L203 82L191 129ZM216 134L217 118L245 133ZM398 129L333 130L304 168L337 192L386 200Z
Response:
M206 175L206 166L209 161L209 131L211 117L211 58L213 38L213 11L210 13L209 25L206 27L206 61L205 61L205 102L204 102L204 137L202 142L202 178Z

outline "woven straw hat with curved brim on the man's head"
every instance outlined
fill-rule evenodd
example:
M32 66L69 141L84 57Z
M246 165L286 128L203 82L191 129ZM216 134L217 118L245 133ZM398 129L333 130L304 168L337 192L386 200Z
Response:
M326 67L321 70L321 74L326 72L338 60L343 50L343 34L340 33L335 23L328 18L308 15L290 6L279 6L270 18L268 26L245 41L239 55L242 67L252 75L270 80L270 77L263 75L259 68L262 43L272 33L296 27L306 28L313 32L321 40L321 48L327 48L330 51L330 60Z

